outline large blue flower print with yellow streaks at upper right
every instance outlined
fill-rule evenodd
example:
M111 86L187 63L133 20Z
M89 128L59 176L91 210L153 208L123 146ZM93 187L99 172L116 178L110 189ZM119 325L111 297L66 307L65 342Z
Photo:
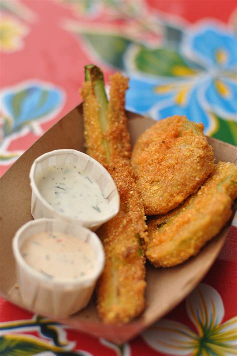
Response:
M208 135L220 125L233 132L237 112L236 48L237 40L227 30L212 24L199 26L184 35L178 54L202 67L193 66L193 74L171 78L153 75L148 79L136 71L130 76L127 108L155 120L186 115L192 121L201 121ZM234 143L234 138L229 142Z

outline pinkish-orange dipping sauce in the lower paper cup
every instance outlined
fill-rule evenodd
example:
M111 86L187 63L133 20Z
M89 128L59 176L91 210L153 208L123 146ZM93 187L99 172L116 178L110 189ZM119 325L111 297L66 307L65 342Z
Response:
M20 252L25 262L47 279L75 281L96 270L92 248L71 235L41 232L24 241Z

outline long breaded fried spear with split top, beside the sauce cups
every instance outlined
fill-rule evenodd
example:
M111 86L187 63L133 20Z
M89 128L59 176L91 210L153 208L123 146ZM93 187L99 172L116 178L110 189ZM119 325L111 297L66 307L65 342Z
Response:
M120 195L117 216L97 230L106 257L97 286L97 310L104 323L127 323L144 308L141 245L147 238L143 205L129 163L131 148L124 110L127 78L119 73L110 77L109 103L100 69L86 66L85 79L80 93L87 153L109 171Z

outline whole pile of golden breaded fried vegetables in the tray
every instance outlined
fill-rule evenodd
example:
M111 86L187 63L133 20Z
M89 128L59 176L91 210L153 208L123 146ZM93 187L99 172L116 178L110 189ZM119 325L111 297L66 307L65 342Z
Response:
M155 123L131 154L127 87L128 78L112 75L108 102L101 70L85 66L86 152L108 170L120 196L117 216L96 231L105 251L97 310L109 324L142 312L145 257L155 267L171 267L196 255L229 220L237 197L237 167L214 164L203 125L185 116Z

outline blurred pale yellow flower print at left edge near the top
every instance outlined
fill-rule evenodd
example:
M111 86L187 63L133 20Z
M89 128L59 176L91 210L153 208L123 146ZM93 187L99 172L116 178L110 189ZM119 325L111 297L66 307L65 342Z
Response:
M25 25L11 17L3 17L0 21L0 51L13 52L22 47L22 38L28 33Z

